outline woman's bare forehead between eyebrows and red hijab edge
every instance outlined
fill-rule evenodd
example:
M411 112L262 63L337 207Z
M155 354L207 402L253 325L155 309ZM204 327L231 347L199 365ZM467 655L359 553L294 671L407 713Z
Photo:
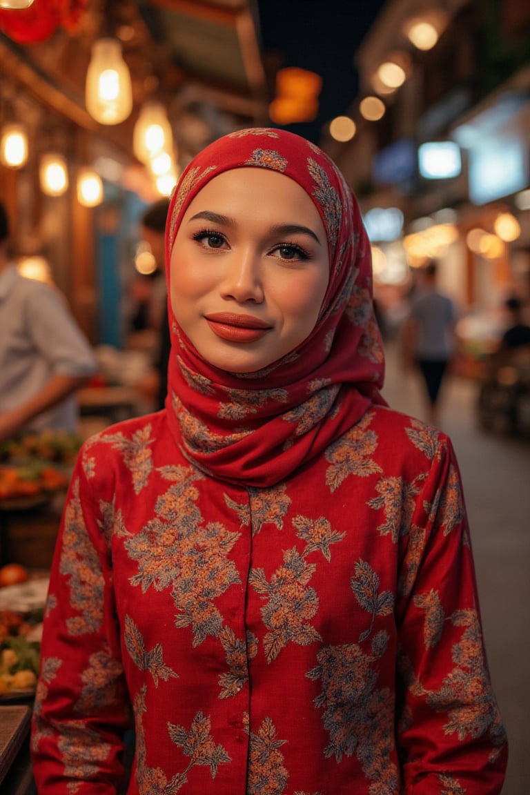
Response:
M183 220L205 208L229 215L244 212L256 219L274 219L274 223L284 222L287 213L290 221L304 216L323 228L308 192L289 176L268 169L230 169L214 176L191 200Z

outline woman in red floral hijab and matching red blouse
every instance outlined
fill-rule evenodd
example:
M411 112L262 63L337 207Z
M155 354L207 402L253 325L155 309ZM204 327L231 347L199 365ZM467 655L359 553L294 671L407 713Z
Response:
M458 466L379 394L369 242L317 147L184 171L161 413L85 444L48 596L40 793L500 793ZM130 706L129 706L130 704Z

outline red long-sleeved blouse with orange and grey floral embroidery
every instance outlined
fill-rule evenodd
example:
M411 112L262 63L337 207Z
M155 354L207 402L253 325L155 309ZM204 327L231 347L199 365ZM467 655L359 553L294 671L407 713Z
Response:
M500 793L458 468L389 409L269 488L164 413L83 449L48 596L39 793ZM72 789L73 785L73 789Z

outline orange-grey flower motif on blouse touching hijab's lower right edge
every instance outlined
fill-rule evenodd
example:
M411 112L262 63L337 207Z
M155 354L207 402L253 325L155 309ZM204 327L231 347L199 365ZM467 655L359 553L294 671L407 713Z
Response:
M377 449L377 436L369 430L372 420L373 414L366 413L357 425L327 448L326 459L331 466L327 467L326 485L332 492L348 475L366 478L381 472L379 464L370 458Z

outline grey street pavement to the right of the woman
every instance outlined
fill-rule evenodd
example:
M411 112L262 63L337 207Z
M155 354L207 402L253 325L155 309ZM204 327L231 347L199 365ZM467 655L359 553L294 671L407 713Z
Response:
M426 419L422 384L386 344L383 394L393 409ZM451 436L462 472L486 653L509 739L502 795L530 795L530 439L478 426L478 385L450 378L439 427Z

